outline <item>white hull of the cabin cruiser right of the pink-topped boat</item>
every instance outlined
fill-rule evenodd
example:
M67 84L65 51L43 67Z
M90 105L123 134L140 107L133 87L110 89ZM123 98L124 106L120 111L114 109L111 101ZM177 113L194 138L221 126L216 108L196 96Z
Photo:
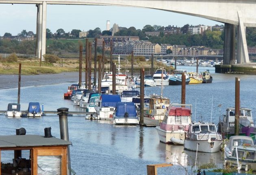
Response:
M198 148L197 148L198 143ZM184 149L190 151L198 151L204 153L215 153L221 149L222 140L214 140L211 143L208 143L208 140L184 140Z

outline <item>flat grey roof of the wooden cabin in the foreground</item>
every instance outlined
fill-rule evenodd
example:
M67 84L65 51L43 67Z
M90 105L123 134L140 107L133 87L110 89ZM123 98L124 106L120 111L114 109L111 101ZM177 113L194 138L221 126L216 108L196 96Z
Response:
M72 143L56 137L39 135L10 135L0 136L0 148L4 147L39 147L39 146L59 146L71 145Z

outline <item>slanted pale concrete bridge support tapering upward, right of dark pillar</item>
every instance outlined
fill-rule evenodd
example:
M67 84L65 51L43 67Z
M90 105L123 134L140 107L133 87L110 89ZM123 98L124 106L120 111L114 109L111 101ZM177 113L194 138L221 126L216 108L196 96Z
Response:
M246 42L246 27L243 24L243 19L238 12L239 25L237 30L237 63L249 63L249 54Z

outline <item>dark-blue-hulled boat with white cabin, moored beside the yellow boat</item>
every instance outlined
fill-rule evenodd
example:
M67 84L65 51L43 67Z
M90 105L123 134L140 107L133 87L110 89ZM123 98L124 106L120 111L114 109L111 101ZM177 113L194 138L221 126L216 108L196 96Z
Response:
M185 73L186 76L186 84L189 84L190 77L187 75L187 71L182 70L174 70L173 74L169 74L169 85L181 85L182 84L182 73Z

